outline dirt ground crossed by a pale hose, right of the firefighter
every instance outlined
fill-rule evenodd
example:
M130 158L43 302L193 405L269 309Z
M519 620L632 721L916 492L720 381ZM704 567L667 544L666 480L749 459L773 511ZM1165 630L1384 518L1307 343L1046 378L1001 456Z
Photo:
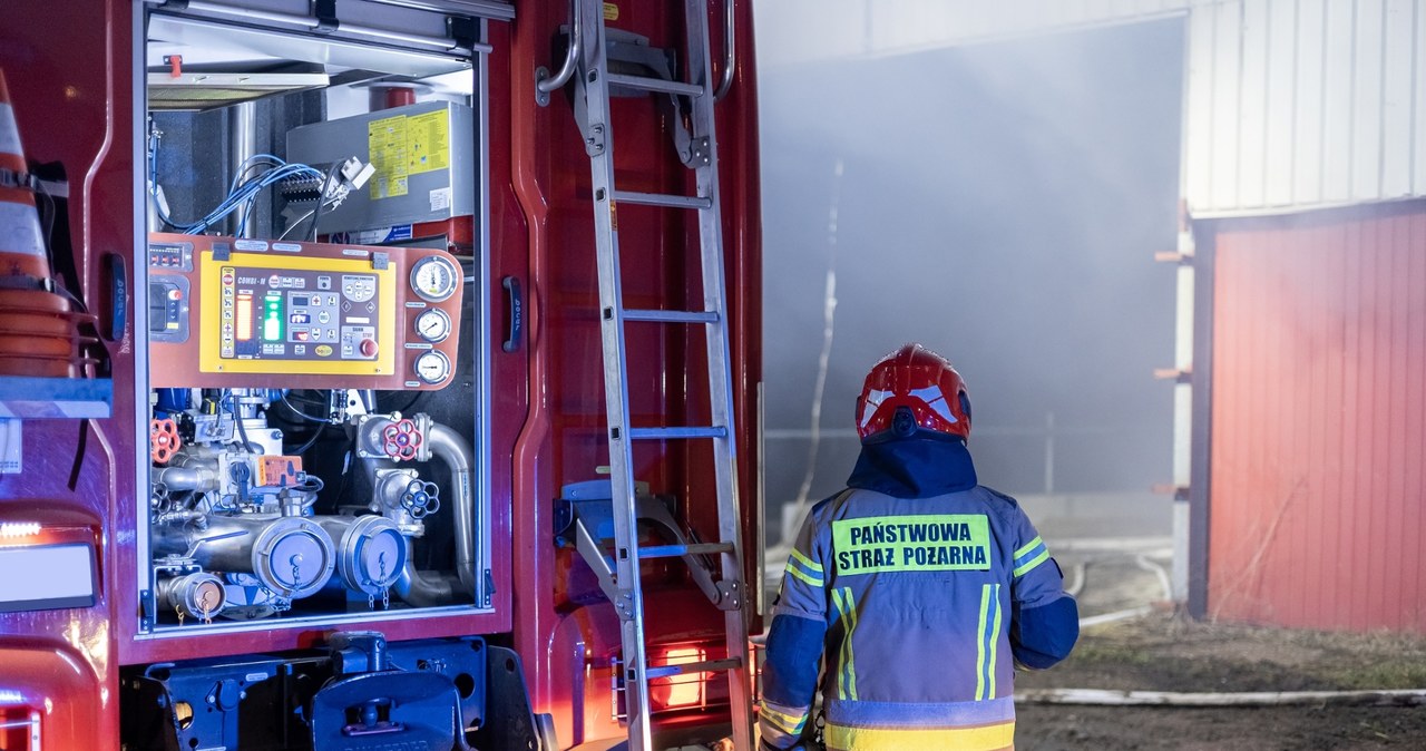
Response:
M1168 614L1097 626L1017 691L1329 691L1426 688L1426 638L1191 623ZM1020 703L1015 748L1426 750L1426 705L1168 708Z

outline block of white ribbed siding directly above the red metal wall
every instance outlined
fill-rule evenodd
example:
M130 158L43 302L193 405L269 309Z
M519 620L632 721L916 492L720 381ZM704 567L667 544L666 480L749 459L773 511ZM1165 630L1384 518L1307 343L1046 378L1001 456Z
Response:
M1426 195L1426 0L1201 4L1189 47L1196 215Z

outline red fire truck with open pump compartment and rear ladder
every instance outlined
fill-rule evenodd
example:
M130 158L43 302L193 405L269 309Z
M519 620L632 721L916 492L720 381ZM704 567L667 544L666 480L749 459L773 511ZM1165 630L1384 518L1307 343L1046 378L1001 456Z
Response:
M3 17L0 748L747 748L749 3Z

